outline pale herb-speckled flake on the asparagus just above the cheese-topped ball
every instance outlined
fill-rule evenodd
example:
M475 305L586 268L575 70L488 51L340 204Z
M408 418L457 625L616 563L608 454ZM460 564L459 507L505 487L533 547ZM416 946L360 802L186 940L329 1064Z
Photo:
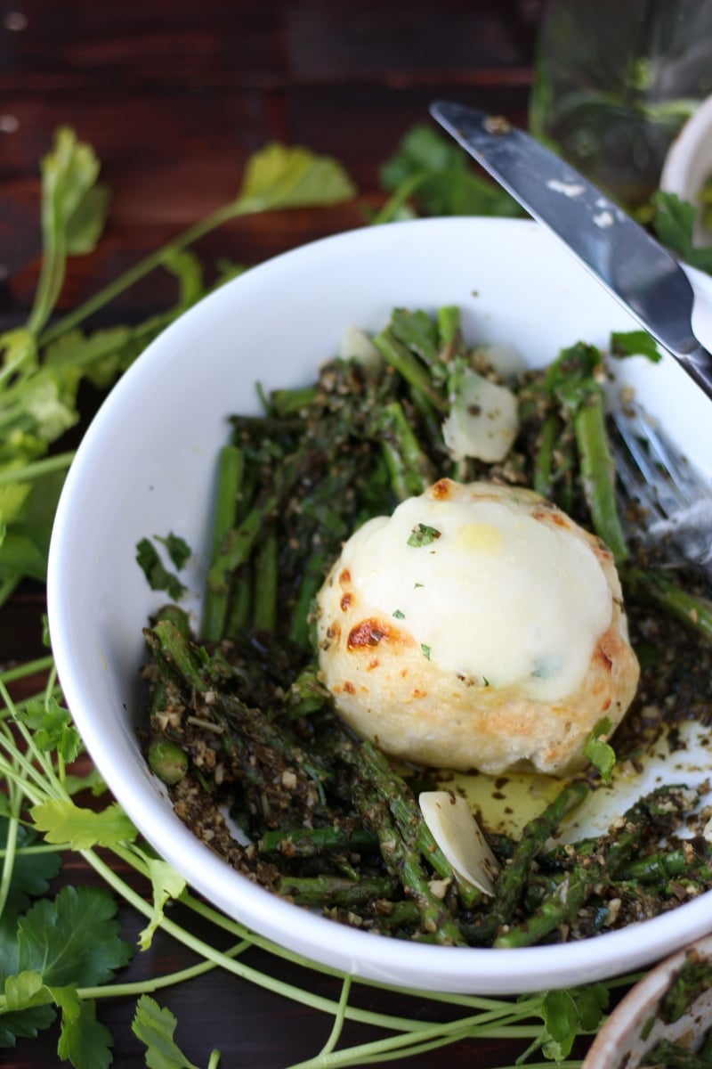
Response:
M468 368L443 423L443 438L453 460L503 461L518 430L518 403L512 391Z

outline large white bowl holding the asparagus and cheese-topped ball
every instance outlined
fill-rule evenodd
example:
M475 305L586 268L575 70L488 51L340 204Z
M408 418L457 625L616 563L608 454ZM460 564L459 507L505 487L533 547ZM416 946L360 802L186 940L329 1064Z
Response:
M712 927L712 897L585 943L494 950L378 939L248 882L174 815L135 737L141 629L163 595L135 562L145 536L183 536L189 586L207 561L217 451L227 417L257 412L254 388L303 385L344 328L378 329L396 306L456 304L471 340L513 343L532 365L582 339L605 347L636 324L536 223L428 219L316 242L256 267L158 338L102 405L66 480L48 599L54 656L90 754L154 847L227 914L295 951L409 988L515 993L645 965ZM712 338L710 307L701 325ZM709 401L671 359L620 367L644 405L712 474ZM705 433L702 433L705 430ZM197 611L194 597L188 608Z

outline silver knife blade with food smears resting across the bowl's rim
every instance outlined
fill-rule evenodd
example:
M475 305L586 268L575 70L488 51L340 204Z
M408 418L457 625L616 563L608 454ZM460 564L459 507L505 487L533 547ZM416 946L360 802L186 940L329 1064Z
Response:
M693 334L695 295L678 262L587 179L505 119L448 102L432 104L430 113L712 398L712 355Z

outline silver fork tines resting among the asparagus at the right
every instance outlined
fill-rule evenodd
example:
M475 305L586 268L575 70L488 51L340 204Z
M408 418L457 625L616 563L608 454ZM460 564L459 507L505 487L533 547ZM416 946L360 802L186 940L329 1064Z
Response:
M613 414L612 449L623 518L668 564L693 564L712 582L712 486L639 408Z

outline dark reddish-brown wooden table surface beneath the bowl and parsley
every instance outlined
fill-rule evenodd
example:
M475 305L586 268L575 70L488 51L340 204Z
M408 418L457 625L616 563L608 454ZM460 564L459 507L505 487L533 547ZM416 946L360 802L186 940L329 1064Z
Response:
M113 191L98 251L72 266L61 300L67 310L231 199L249 154L270 141L337 157L359 187L358 202L231 223L201 243L206 263L256 263L360 226L364 210L384 199L379 166L412 124L428 121L437 96L525 122L539 14L536 0L0 0L0 329L21 323L30 307L41 247L38 160L59 125L94 145ZM165 307L167 285L151 276L99 322L131 322ZM88 398L85 418L95 402ZM43 652L44 605L44 588L28 584L1 609L3 665ZM61 881L97 878L72 855ZM122 908L121 919L135 940L142 918ZM219 942L207 925L191 924ZM159 933L122 979L158 978L193 960ZM265 955L250 961L274 967ZM290 965L279 965L278 975L338 997L331 979ZM197 1065L219 1048L225 1067L281 1069L313 1056L330 1028L316 1011L223 973L171 988L160 1001L176 1013L176 1038ZM358 1001L426 1019L436 1012L373 991ZM130 1031L133 1006L126 997L99 1008L114 1035L114 1064L127 1069L144 1064ZM370 1033L349 1027L346 1037ZM473 1040L408 1065L446 1057L453 1069L508 1066L521 1050ZM57 1032L20 1041L0 1063L60 1065Z

